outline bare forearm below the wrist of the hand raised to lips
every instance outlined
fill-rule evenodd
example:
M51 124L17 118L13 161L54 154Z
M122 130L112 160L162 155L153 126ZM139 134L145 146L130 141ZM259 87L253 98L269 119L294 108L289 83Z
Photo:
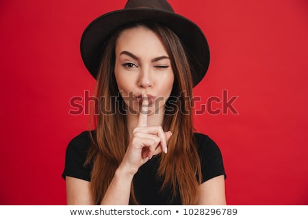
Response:
M101 205L129 205L132 181L133 175L119 167L101 201Z

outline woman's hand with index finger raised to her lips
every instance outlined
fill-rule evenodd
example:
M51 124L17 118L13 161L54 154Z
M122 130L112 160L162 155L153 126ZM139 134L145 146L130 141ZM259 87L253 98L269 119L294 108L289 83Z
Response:
M135 175L140 166L153 157L159 146L167 153L167 142L172 135L170 131L164 132L161 126L147 126L148 104L148 100L144 98L137 127L133 129L129 146L120 164L131 175Z

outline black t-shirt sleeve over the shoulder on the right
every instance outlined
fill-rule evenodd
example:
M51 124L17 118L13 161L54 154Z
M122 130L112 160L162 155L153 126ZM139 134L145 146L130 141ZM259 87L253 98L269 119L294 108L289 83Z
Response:
M219 175L224 175L224 164L220 148L209 136L203 133L194 133L199 159L201 162L201 170L203 181Z

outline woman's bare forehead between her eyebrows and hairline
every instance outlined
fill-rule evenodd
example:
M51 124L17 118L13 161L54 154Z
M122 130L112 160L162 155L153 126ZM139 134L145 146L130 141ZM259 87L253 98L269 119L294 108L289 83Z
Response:
M129 51L135 55L167 55L166 47L157 33L146 27L123 30L116 40L116 54Z

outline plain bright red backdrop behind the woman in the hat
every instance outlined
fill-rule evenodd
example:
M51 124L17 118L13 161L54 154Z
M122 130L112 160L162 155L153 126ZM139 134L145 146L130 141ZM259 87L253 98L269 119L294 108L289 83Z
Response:
M222 151L227 203L308 205L308 2L170 3L209 41L209 71L194 88L200 103L222 90L238 96L239 114L195 116L196 129ZM0 1L1 205L66 204L66 145L88 129L88 116L68 114L69 100L94 86L80 36L92 19L124 5Z

